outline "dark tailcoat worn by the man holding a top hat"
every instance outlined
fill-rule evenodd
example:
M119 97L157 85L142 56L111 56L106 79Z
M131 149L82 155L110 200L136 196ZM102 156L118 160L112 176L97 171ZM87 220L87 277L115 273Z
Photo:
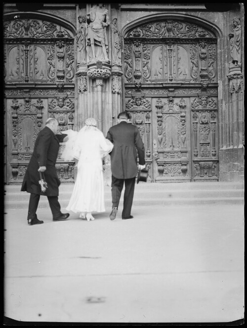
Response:
M106 138L114 144L110 153L112 175L118 179L135 177L137 174L137 153L139 164L145 164L145 149L138 128L122 121L110 127Z

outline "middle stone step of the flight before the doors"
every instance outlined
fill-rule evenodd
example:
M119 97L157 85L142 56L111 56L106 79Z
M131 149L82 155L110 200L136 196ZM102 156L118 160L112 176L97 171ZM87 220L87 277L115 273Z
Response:
M124 193L124 190L123 190ZM123 194L122 193L122 194ZM70 199L71 191L59 190L59 201ZM23 202L29 201L30 194L27 192L7 192L5 202ZM224 189L224 190L143 190L142 188L135 189L135 197L139 199L188 199L188 198L231 198L244 197L244 190L239 189ZM41 198L42 199L42 198ZM111 188L105 189L105 200L111 199Z

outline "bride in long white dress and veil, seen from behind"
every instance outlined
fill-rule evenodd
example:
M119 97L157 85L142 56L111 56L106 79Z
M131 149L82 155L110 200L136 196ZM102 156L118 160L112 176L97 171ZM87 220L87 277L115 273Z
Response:
M78 160L78 173L67 210L81 212L80 218L94 220L92 212L104 212L104 181L102 157L113 149L96 127L96 121L89 118L79 132L67 130L69 140L61 158L65 161Z

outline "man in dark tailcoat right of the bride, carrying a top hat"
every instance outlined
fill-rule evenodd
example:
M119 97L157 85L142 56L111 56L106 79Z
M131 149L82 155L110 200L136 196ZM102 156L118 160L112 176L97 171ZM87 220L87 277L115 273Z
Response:
M110 153L112 169L112 212L110 219L116 218L124 184L122 219L132 219L133 216L130 213L137 174L137 153L139 169L142 169L145 167L144 145L138 128L133 124L128 124L126 112L118 115L118 124L110 127L106 138L114 144Z

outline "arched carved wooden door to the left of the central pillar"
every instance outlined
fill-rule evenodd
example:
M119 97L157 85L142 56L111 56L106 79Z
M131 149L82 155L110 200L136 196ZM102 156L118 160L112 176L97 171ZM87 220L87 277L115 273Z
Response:
M48 117L58 120L60 131L75 123L73 33L55 22L19 16L4 23L7 184L22 183ZM62 181L74 181L73 164L58 157Z

